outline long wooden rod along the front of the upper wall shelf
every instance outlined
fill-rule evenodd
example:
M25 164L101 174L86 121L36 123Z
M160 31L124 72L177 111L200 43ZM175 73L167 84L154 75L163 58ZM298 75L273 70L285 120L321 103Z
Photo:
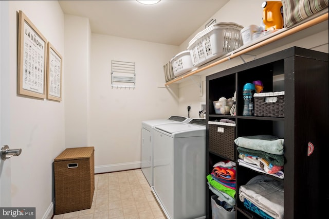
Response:
M172 83L175 83L175 82L180 81L182 79L193 76L193 75L195 75L195 74L197 74L201 71L204 71L208 68L214 67L218 64L224 63L224 62L229 61L231 59L234 59L236 57L241 57L243 54L247 54L250 51L261 48L265 45L276 42L280 39L286 38L289 35L292 35L292 34L295 34L299 31L302 31L302 30L305 30L307 28L313 27L313 26L318 25L318 24L320 24L322 22L325 22L327 20L328 20L328 8L318 12L317 14L314 14L313 16L308 17L308 19L306 19L304 22L302 22L300 24L297 24L294 27L291 27L291 28L288 28L288 29L283 28L283 29L269 35L267 39L264 38L264 40L259 42L259 43L250 45L246 48L242 47L242 48L236 49L236 50L232 51L231 53L229 53L228 56L225 56L224 58L220 58L220 60L217 60L217 61L212 62L210 64L206 64L203 67L197 68L196 70L188 72L185 75L182 75L182 76L177 77L177 78L175 78L171 81L168 81L165 84L165 86L168 86ZM327 24L326 24L326 28L328 28ZM310 33L309 35L312 35L312 34Z

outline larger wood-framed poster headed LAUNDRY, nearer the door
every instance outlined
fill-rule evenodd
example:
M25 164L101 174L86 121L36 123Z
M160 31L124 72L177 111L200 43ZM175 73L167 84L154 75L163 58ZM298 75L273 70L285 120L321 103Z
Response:
M47 40L19 11L17 94L46 98Z

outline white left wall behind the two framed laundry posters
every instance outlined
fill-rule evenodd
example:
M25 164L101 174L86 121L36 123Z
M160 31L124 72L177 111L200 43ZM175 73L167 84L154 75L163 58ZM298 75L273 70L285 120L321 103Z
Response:
M57 1L9 1L9 121L11 206L35 207L36 218L52 215L53 159L64 149L64 99L61 102L17 95L17 24L22 10L45 38L64 56L64 14ZM65 72L63 72L65 75Z

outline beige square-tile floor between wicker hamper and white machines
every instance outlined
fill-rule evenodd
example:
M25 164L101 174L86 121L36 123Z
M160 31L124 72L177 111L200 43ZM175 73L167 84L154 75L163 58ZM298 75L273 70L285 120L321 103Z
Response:
M53 219L166 219L141 169L95 175L90 209L54 215Z

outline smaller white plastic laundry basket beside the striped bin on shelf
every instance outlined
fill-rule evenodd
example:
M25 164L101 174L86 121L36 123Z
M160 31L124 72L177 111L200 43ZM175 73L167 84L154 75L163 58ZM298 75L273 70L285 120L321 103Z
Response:
M173 67L174 75L180 76L194 67L191 60L191 54L189 50L179 52L171 60L171 65Z

